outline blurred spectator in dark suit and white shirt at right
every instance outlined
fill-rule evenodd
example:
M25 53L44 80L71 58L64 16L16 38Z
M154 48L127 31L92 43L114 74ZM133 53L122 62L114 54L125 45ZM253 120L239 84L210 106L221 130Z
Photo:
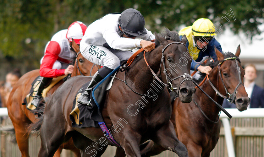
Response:
M255 84L257 70L254 64L249 64L245 67L244 86L250 104L248 108L264 108L264 89ZM223 102L223 108L236 108L235 104L231 104L226 99Z

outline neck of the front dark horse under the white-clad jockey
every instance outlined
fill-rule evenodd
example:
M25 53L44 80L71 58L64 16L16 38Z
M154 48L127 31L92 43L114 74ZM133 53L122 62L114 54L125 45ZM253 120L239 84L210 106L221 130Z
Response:
M146 52L146 61L148 62L154 73L157 73L160 69L162 46L155 48L151 52ZM143 52L142 52L143 53ZM153 74L147 67L144 57L140 58L134 65L131 66L127 72L127 82L133 84L137 89L142 92L148 90L153 82Z

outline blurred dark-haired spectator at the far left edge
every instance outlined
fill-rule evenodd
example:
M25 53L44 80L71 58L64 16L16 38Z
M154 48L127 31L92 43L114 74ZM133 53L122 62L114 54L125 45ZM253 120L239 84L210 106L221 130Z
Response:
M21 73L19 69L14 69L13 71L7 73L6 82L0 87L1 107L6 107L9 94L20 77Z

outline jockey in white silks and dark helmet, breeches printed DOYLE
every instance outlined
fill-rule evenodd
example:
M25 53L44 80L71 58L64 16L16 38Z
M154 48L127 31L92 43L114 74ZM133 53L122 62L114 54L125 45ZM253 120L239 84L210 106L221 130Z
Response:
M140 39L138 39L140 37ZM90 84L78 99L90 105L92 87L133 55L133 49L142 47L146 52L155 48L151 41L155 36L145 28L145 19L139 11L126 9L121 14L107 14L87 27L80 42L82 55L95 64L103 66L93 76Z

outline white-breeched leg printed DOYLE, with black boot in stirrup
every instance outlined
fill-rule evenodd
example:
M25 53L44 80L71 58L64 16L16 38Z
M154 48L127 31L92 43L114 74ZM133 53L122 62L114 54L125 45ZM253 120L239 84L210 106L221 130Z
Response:
M80 51L83 57L90 62L104 66L94 74L90 84L85 89L85 92L83 92L77 100L80 104L92 107L90 105L92 87L111 73L113 69L117 68L120 65L120 60L104 46L96 46L85 43L80 45Z

